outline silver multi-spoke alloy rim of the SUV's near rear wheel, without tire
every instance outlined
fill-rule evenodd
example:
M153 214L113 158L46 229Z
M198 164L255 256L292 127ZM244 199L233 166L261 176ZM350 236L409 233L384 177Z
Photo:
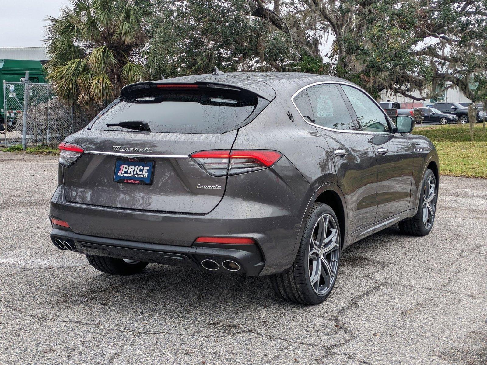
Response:
M315 224L309 242L309 278L318 295L326 295L335 282L338 271L339 237L337 222L323 214Z

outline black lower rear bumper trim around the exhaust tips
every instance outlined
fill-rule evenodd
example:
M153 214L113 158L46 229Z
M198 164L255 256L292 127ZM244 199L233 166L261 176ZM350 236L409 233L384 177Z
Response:
M259 275L264 267L262 253L257 245L205 244L181 247L122 239L79 235L61 229L53 229L51 240L57 248L75 251L83 255L125 258L164 265L203 269L204 260L218 263L217 270L227 273ZM61 244L59 244L61 242ZM223 262L231 260L240 265L236 271L225 269Z

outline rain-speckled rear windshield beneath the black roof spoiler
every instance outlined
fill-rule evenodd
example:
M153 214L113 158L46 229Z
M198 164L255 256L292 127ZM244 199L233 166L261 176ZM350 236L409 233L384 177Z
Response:
M244 122L256 109L258 99L228 91L152 91L122 98L95 120L91 129L130 131L133 129L107 124L147 122L152 132L220 134Z

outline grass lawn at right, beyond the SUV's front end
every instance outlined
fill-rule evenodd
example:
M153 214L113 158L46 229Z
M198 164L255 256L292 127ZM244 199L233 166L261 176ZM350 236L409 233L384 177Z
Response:
M468 125L417 128L413 134L428 137L440 158L440 173L449 176L487 179L487 129L477 123L474 142Z

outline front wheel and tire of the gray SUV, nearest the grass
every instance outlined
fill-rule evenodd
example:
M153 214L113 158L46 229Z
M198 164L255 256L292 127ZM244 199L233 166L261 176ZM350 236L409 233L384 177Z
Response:
M434 183L432 188L431 182ZM431 193L433 195L431 195ZM433 172L428 168L426 169L425 175L423 176L423 182L421 183L421 195L419 197L418 211L414 217L399 222L399 230L402 233L410 236L426 236L431 232L434 218L436 216L437 194L438 185L436 183L436 178L434 177ZM431 200L426 201L425 196ZM428 206L425 204L428 204ZM430 209L428 209L428 207ZM424 209L426 209L428 214L426 221Z

